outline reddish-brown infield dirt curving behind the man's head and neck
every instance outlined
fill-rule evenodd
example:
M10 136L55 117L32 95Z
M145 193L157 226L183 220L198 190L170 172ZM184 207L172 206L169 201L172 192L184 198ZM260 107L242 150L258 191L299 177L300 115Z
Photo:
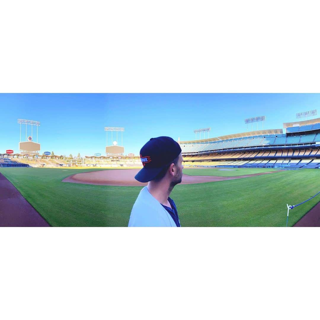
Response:
M133 187L133 186L146 186L148 183L142 183L134 179L134 176L139 172L140 169L126 169L126 170L103 170L95 172L83 172L73 174L62 182L82 183L82 184L95 184L102 186L122 186L122 187ZM225 180L234 180L259 176L263 174L270 174L278 171L262 172L247 174L237 177L217 177L217 176L189 176L187 174L182 175L181 184L194 184L204 182L216 182Z

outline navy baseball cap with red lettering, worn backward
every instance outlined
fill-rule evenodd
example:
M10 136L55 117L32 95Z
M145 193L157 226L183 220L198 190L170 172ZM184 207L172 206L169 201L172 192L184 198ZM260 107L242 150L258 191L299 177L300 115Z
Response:
M140 150L143 168L135 175L140 182L148 182L179 156L181 148L178 142L170 137L151 138Z

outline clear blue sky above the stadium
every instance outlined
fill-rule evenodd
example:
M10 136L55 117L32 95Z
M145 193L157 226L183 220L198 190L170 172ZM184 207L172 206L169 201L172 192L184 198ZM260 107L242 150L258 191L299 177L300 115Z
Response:
M297 112L318 109L319 102L320 94L298 93L0 94L0 153L7 149L19 152L18 118L40 121L41 153L104 155L107 143L104 127L121 126L125 128L125 154L139 155L140 148L152 137L166 135L175 140L178 137L181 141L193 140L193 130L206 127L212 128L210 137L245 132L244 119L254 116L266 116L264 129L281 129L284 122L296 121ZM33 128L36 141L36 127ZM253 130L256 128L253 124ZM27 133L31 135L30 126ZM25 125L21 136L24 141ZM108 137L110 145L111 134ZM118 144L121 145L120 134Z

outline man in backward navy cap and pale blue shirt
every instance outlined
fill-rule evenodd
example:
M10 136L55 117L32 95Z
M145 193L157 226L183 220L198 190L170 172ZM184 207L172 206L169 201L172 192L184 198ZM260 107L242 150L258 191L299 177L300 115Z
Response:
M140 150L143 168L134 177L148 182L133 205L128 227L180 227L177 207L169 197L182 179L179 144L170 137L151 138Z

